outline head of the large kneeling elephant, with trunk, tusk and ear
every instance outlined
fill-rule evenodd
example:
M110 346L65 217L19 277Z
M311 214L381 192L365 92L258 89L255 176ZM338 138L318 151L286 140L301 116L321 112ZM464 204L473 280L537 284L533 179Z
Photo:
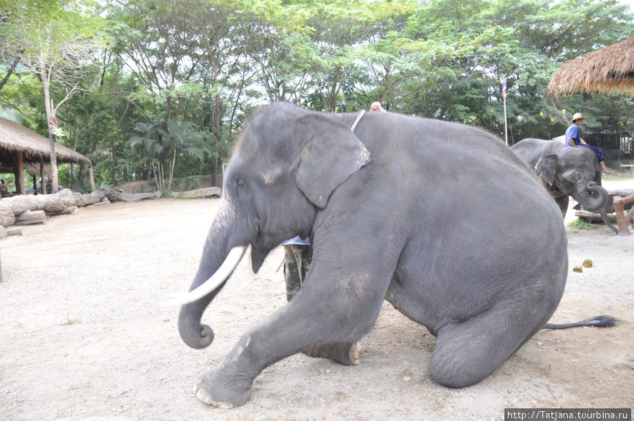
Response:
M369 161L370 153L347 125L287 103L256 113L225 170L197 274L178 298L185 344L204 348L213 341L211 328L201 325L202 313L247 246L257 272L282 241L309 237L332 191Z

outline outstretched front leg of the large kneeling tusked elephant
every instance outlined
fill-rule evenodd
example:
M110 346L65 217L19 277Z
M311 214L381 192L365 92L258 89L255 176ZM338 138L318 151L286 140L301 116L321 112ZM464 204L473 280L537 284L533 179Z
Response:
M287 306L244 334L222 364L199 377L197 397L218 408L243 405L255 377L266 367L303 351L356 363L354 344L372 328L385 289L366 276L349 275L319 285L309 274Z

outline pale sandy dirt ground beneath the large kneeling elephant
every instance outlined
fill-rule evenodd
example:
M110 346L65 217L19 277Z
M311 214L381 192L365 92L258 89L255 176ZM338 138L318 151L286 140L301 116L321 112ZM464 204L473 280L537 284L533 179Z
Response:
M204 315L213 344L180 340L178 308L159 301L189 287L218 202L81 208L0 240L0 420L492 421L510 407L634 406L634 236L602 225L567 229L552 320L609 314L616 327L538 332L480 384L447 389L428 373L434 337L384 303L358 367L292 356L257 377L246 405L206 406L192 392L199 373L285 305L282 250L256 275L244 258ZM592 268L572 271L587 258Z

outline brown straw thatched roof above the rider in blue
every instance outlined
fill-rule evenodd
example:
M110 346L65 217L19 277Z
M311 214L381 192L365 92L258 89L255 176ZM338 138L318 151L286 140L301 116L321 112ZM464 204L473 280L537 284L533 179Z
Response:
M576 91L634 94L634 37L566 61L547 88L555 95Z

